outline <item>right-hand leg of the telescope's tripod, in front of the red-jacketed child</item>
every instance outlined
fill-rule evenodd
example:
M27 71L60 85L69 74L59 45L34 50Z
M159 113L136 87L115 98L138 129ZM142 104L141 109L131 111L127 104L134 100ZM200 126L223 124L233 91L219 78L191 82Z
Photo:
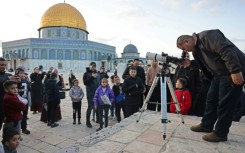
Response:
M174 103L175 103L175 107L176 107L176 110L177 110L176 112L177 112L178 115L180 115L181 122L184 124L185 123L184 122L184 118L183 118L183 116L181 114L181 109L180 109L180 106L179 106L179 102L178 102L178 99L177 99L176 94L174 92L174 87L173 87L173 84L171 82L170 77L166 77L166 81L167 81L168 88L170 90L171 96L172 96L172 98L174 100Z

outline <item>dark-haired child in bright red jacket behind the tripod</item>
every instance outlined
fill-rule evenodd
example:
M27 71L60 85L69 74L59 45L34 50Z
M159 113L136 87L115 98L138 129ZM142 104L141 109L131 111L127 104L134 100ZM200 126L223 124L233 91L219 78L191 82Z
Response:
M177 96L182 115L188 115L188 110L191 108L191 94L186 89L187 81L184 78L178 78L176 81L175 94ZM171 99L173 101L173 98ZM170 105L170 112L176 113L175 104Z

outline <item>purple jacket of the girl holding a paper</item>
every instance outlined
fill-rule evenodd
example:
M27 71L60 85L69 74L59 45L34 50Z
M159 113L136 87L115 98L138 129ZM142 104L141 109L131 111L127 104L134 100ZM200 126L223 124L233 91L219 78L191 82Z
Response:
M103 92L103 90L102 90L102 87L101 87L101 85L97 88L97 90L95 91L95 95L94 95L94 104L95 105L105 105L104 103L103 103L103 101L101 100L101 96L104 96L104 95L107 95L108 96L108 98L110 99L110 102L111 103L113 103L113 101L114 101L114 93L113 93L113 91L111 90L111 88L110 88L110 86L108 85L107 87L106 87L106 90L105 90L105 92Z

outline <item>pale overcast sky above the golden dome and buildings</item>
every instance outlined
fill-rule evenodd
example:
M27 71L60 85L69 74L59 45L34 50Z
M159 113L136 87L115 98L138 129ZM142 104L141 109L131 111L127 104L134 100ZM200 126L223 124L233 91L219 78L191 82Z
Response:
M37 38L44 12L64 0L2 0L0 41ZM83 15L89 40L116 47L180 56L176 39L220 29L245 51L245 0L66 0ZM0 45L1 47L1 45ZM1 49L0 49L1 52ZM0 53L1 54L1 53Z

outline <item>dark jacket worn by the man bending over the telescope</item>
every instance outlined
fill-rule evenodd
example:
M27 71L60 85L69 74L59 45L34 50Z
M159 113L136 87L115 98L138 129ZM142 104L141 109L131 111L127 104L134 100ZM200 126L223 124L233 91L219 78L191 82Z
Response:
M196 42L193 57L207 78L245 73L245 54L220 30L194 33L193 37Z

